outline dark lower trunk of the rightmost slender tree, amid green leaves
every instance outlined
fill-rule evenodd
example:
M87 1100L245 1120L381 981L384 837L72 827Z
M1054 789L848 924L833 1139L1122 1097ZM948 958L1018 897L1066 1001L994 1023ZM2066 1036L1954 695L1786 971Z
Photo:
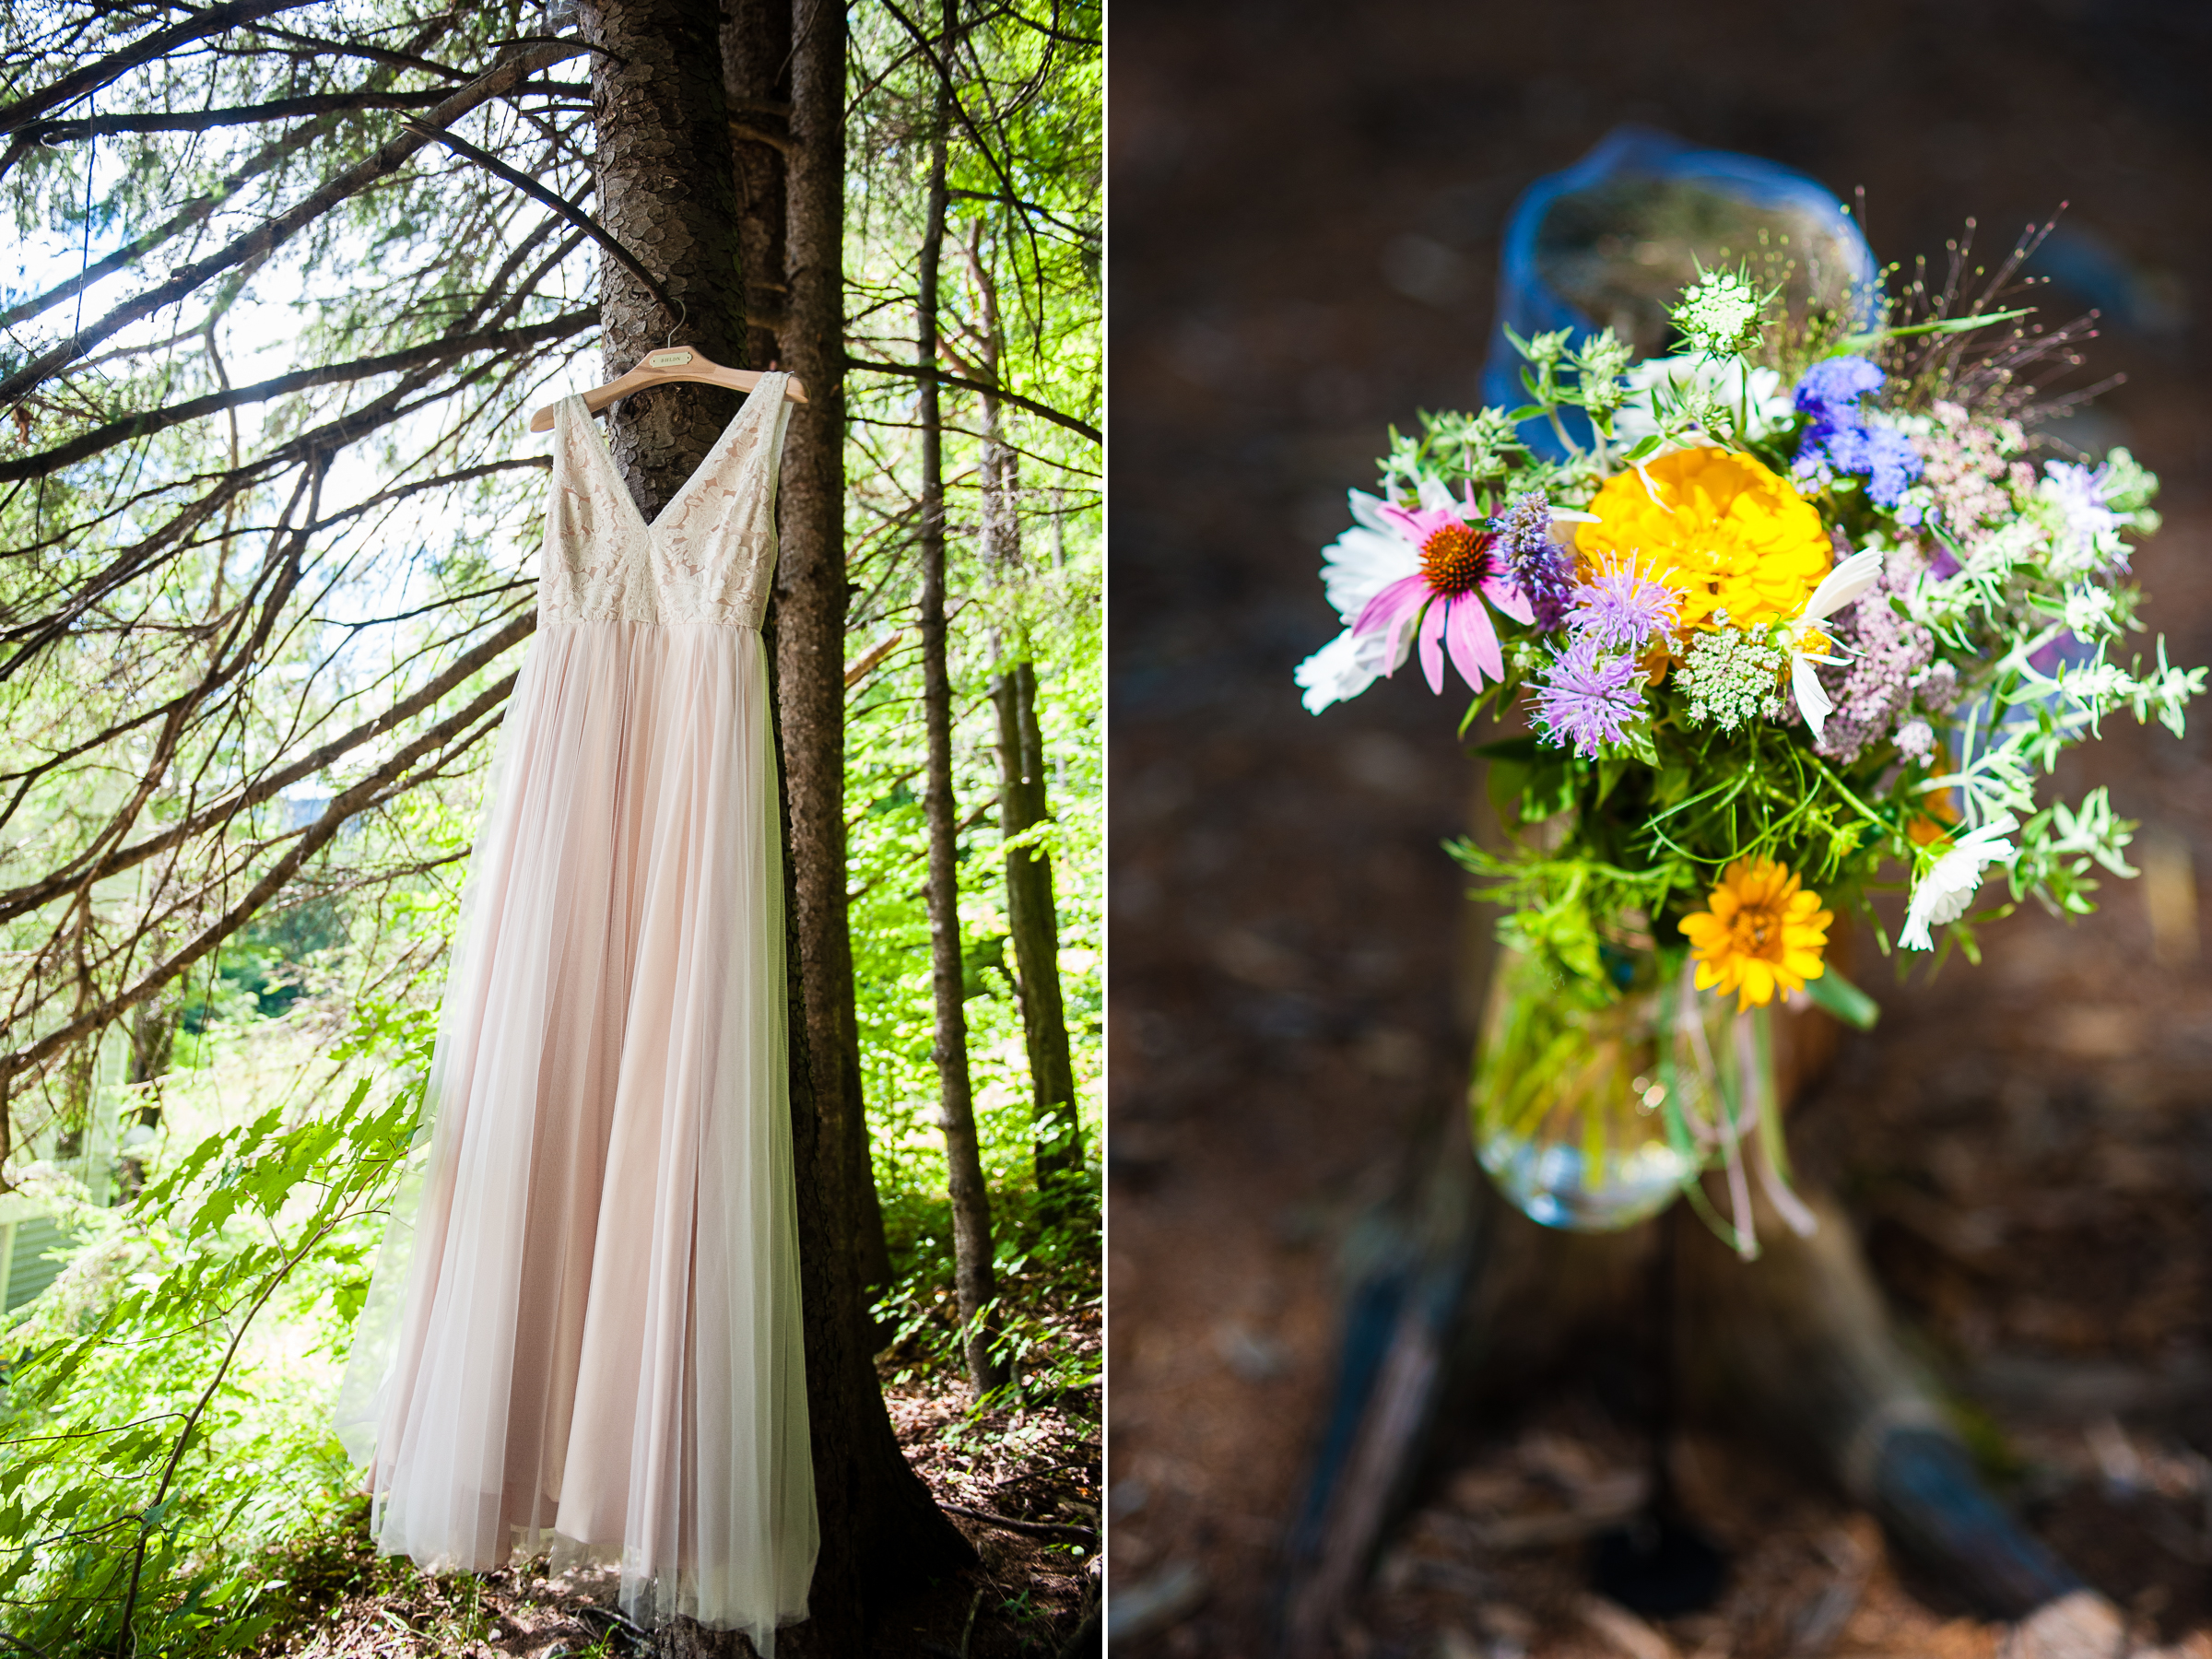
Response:
M991 701L998 708L998 825L1011 841L1051 816L1044 799L1035 666L1024 657L998 675L991 681ZM1013 933L1013 984L1022 1000L1022 1040L1029 1046L1037 1194L1044 1219L1062 1221L1073 1208L1066 1188L1084 1168L1084 1141L1075 1115L1068 1018L1060 998L1053 865L1035 847L1006 852L1006 929Z

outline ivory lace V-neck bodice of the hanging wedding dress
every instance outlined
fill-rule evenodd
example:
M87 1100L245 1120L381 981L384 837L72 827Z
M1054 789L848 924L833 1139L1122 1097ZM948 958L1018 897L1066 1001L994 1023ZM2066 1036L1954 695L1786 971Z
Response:
M776 573L776 467L790 403L768 374L646 524L584 398L553 411L540 622L759 628Z

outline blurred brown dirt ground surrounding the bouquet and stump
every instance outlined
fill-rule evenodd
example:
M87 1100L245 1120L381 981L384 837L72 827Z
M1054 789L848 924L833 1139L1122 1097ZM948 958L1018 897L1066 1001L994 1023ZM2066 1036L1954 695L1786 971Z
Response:
M1416 681L1310 717L1318 549L1389 422L1469 407L1513 197L1617 122L1865 186L1887 259L2068 201L2057 314L2128 383L2077 431L2166 480L2137 568L2212 659L2203 285L2212 9L1219 4L1113 11L1113 1015L1108 1509L1117 1652L1270 1648L1327 1405L1352 1223L1464 1086L1455 708ZM2068 774L2143 821L2099 916L2020 916L1898 987L1794 1119L2033 1528L2212 1655L2212 708ZM1863 945L1860 960L1874 953ZM1515 1515L1639 1464L1595 1385L1442 1438L1347 1652L1995 1655L2002 1626L1867 1515L1725 1433L1677 1455L1732 1557L1710 1615L1593 1604Z

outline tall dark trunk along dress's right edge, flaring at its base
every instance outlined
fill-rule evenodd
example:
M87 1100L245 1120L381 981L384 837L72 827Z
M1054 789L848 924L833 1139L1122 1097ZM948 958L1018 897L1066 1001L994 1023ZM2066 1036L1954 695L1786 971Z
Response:
M863 1338L854 1261L854 1144L865 1133L854 1053L852 940L845 931L845 13L792 11L792 150L783 365L805 380L783 449L776 560L776 732L790 814L794 971L792 1150L799 1175L799 1276L805 1301L807 1411L821 1557L812 1617L787 1650L867 1652L867 1608L975 1559L907 1467ZM838 1009L843 1009L843 1029ZM869 1192L874 1188L869 1186Z

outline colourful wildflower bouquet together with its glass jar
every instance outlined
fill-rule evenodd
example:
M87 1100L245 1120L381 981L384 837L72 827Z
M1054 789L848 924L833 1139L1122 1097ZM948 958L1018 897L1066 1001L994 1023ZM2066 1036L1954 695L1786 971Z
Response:
M1473 692L1462 734L1520 728L1478 748L1511 847L1451 852L1509 911L1478 1150L1540 1221L1703 1208L1719 1164L1745 1252L1747 1168L1809 1225L1765 1009L1871 1024L1836 916L1978 960L2022 900L2079 914L2093 869L2135 874L2104 790L2039 783L2108 714L2179 734L2205 670L2126 648L2157 480L2124 449L2035 465L2059 407L2037 378L2079 325L1995 310L2031 246L1980 296L1829 312L1701 270L1674 356L1509 334L1528 403L1425 414L1352 491L1323 568L1345 630L1298 668L1305 706L1418 657ZM1900 883L1891 940L1869 894Z

